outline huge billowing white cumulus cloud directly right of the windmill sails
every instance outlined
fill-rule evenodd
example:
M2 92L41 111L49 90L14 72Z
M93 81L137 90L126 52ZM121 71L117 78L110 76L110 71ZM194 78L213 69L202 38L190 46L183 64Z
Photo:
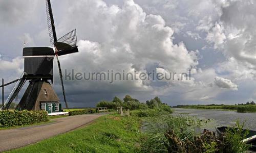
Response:
M67 70L147 72L148 64L157 63L165 70L182 73L198 65L198 51L187 50L182 42L174 44L174 31L165 25L164 19L146 14L134 1L125 1L121 7L108 6L100 0L76 1L70 6L58 27L67 31L77 25L80 41L79 53L60 57L61 66ZM65 84L76 87L79 84L80 91L95 89L125 93L131 90L154 92L156 88L152 82L121 81L111 86L95 81L67 81Z

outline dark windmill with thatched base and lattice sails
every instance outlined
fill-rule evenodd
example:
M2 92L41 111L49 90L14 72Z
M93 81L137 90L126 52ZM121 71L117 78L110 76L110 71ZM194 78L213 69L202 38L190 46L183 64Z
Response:
M10 104L22 89L25 82L29 80L29 86L27 87L22 99L20 99L16 109L46 110L49 113L60 111L61 104L59 104L59 98L53 90L52 85L48 82L51 80L53 83L54 57L56 57L58 64L63 98L66 108L68 108L58 56L78 52L76 30L72 30L57 39L50 0L46 0L46 14L50 42L55 49L50 47L23 48L24 72L19 79L3 85L7 86L16 82L16 85L8 96L6 103L1 109L8 109L10 107Z

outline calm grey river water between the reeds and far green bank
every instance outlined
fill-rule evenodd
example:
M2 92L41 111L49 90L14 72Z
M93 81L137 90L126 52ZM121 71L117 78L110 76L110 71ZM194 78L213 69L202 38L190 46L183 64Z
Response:
M239 119L240 122L245 121L245 127L249 130L256 131L256 113L237 113L236 111L223 110L199 110L199 109L181 109L174 108L176 115L184 114L196 116L200 119L213 119L209 129L218 126L232 126Z

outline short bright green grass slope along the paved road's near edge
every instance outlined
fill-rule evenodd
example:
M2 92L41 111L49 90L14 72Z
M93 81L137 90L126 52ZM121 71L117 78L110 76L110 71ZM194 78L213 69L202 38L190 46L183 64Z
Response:
M78 130L7 152L139 152L139 117L106 115Z

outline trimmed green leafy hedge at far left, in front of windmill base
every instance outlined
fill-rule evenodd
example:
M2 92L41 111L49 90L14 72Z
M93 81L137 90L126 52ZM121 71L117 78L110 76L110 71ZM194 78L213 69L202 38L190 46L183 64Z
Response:
M47 122L46 111L0 111L0 127L23 126L39 122Z

